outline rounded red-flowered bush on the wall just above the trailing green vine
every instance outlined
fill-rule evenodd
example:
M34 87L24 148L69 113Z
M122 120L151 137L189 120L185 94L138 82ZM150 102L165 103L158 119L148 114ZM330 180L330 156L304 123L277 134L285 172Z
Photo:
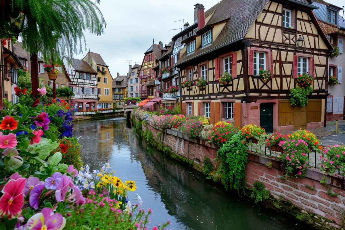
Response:
M211 143L222 146L238 132L238 128L233 126L229 121L218 121L211 130L208 140Z

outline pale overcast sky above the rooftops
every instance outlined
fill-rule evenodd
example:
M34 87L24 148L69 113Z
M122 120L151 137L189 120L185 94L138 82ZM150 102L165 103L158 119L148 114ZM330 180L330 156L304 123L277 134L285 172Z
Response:
M219 0L101 0L99 6L107 28L102 36L85 34L87 51L100 53L109 66L112 77L116 73L125 75L129 71L129 63L141 64L144 52L152 45L152 40L158 44L169 43L171 38L183 27L185 19L190 25L194 22L194 5L202 3L205 10ZM252 1L252 0L247 0ZM328 0L329 3L342 7L344 0ZM80 54L83 58L87 51Z

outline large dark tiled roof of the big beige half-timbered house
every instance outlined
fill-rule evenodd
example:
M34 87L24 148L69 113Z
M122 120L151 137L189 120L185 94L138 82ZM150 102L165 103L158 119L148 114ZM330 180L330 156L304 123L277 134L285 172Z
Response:
M288 1L296 4L302 4L304 6L307 5L309 8L314 7L310 4L311 1L309 3L309 0ZM208 14L211 12L214 13L208 20L205 27L210 27L212 24L225 21L226 24L224 28L221 30L213 43L202 49L200 46L195 47L194 53L187 55L186 52L183 56L181 56L175 66L181 66L181 64L184 64L194 58L242 40L250 26L252 26L253 22L266 6L267 2L268 0L222 0L218 2L215 6L206 11ZM207 14L205 13L205 17L206 16ZM202 28L200 30L202 30Z

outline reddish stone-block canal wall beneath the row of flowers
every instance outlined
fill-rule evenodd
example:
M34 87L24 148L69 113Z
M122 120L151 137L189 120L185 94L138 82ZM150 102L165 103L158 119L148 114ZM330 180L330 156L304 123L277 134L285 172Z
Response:
M159 130L149 124L146 127L152 131L156 138ZM146 127L143 126L143 130ZM209 157L215 164L214 159L218 149L204 140L188 138L183 133L171 130L167 130L164 135L162 134L161 140L179 155L194 160L196 163L202 165L204 158ZM271 169L266 166L269 161L272 162ZM342 179L311 168L307 169L305 178L282 180L281 176L283 176L283 171L280 169L278 160L249 154L246 166L246 180L249 187L252 187L255 181L263 182L275 198L289 199L303 210L333 220L333 223L329 223L332 227L338 228L341 225L342 212L345 209L345 190ZM326 182L332 192L338 193L338 196L328 196L327 188L320 183L324 176L326 176ZM309 189L305 185L311 186L315 190Z

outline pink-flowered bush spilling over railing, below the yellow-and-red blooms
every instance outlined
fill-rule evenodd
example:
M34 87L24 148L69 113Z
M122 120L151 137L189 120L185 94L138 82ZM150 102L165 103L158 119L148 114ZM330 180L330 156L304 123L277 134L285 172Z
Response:
M280 141L283 152L277 158L283 164L284 175L287 177L305 177L308 165L308 144L304 140Z

